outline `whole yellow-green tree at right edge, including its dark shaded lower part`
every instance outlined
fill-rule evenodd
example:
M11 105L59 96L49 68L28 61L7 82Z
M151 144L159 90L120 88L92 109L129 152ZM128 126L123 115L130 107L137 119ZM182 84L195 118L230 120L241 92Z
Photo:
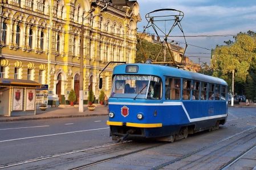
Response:
M256 34L253 31L239 32L235 42L225 42L227 45L217 46L214 49L212 68L213 76L221 77L231 85L232 71L235 71L235 92L245 90L246 95L255 94L251 88L256 71ZM255 84L255 82L254 82ZM254 85L255 86L255 85ZM254 89L255 90L255 89ZM251 95L248 97L252 98Z

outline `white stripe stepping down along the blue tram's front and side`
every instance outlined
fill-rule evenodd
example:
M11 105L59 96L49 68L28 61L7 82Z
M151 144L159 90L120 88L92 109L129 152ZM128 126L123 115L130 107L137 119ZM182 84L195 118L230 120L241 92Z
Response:
M109 102L109 105L136 105L136 106L182 106L182 109L184 110L186 117L188 117L189 122L197 122L197 121L205 121L207 119L215 119L215 118L222 118L227 117L227 114L221 114L221 115L213 115L209 117L202 117L202 118L190 118L188 111L186 111L185 106L183 105L183 102L162 102L162 103L132 103L132 102Z

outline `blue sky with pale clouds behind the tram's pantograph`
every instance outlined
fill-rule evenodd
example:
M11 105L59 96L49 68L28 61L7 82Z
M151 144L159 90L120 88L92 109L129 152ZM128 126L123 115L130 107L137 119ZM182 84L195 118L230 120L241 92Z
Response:
M180 23L185 36L197 35L197 37L186 37L188 48L185 55L192 56L190 59L194 63L199 63L200 61L200 64L203 62L210 64L210 49L214 49L216 45L225 45L224 41L234 41L233 36L239 32L247 32L249 30L256 32L255 0L137 0L137 2L139 3L142 19L137 24L138 32L143 32L143 27L147 26L148 22L145 19L145 15L151 11L175 9L184 13L184 18ZM174 13L172 11L165 11L164 13L164 15L171 14ZM173 21L170 22L157 22L156 24L161 30L168 32L173 24ZM155 34L152 28L148 28L146 32ZM174 27L170 35L180 36L182 33L178 27ZM201 35L228 36L205 37ZM178 45L184 47L185 41L183 38L170 37L170 40L174 40L176 43L178 42Z

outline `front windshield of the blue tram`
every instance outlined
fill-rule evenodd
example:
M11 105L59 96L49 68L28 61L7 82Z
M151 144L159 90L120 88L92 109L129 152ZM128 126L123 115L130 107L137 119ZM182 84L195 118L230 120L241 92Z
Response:
M159 77L145 75L116 75L111 97L161 99L162 82Z

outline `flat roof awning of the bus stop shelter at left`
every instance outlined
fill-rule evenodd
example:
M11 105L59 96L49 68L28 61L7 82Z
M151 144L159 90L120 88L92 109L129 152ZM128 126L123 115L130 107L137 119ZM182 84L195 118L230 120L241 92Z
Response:
M32 80L22 80L22 79L11 79L11 78L0 78L0 86L1 87L29 87L36 88L36 86L40 86L42 84L32 81Z

